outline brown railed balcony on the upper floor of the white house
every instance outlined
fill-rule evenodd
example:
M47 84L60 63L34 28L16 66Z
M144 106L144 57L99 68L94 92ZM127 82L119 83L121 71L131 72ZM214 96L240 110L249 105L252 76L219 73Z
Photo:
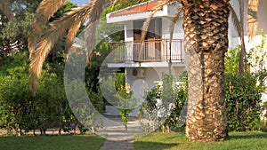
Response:
M143 47L141 47L143 46ZM142 50L141 50L142 48ZM183 40L147 40L140 42L109 43L113 63L183 62Z

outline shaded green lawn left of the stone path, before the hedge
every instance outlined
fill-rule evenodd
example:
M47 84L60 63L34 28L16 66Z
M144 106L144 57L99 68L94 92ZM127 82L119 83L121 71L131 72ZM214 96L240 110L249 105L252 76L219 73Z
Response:
M0 137L3 150L99 150L105 138L92 135Z

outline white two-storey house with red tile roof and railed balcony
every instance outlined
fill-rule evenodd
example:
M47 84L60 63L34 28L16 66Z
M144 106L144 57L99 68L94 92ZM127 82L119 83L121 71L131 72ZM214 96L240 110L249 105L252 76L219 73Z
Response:
M186 55L183 50L183 29L182 20L179 20L174 27L173 41L170 44L170 24L172 18L181 4L172 2L161 7L150 22L148 34L145 38L142 51L140 43L142 25L150 16L153 8L166 0L151 0L142 4L127 7L117 12L107 14L107 22L124 25L125 42L110 43L109 47L113 50L113 60L109 61L109 68L124 68L126 82L130 83L134 91L134 97L143 98L146 87L153 87L156 81L161 81L163 74L179 75L186 70ZM247 1L244 0L247 10ZM237 1L238 2L238 1ZM247 50L261 42L260 29L267 32L267 10L264 6L267 1L260 0L258 9L259 30L253 43L248 43ZM239 12L239 5L236 1L231 2L236 12ZM244 12L245 17L247 11ZM244 22L246 22L245 19ZM245 23L246 30L246 23ZM239 44L239 36L230 19L229 28L230 48ZM115 51L114 51L115 50ZM267 64L267 63L266 63ZM171 69L170 69L171 68Z

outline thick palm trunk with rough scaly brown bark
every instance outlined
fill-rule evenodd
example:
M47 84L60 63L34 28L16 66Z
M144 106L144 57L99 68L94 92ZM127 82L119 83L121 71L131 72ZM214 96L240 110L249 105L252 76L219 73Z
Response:
M227 138L224 53L228 49L228 0L182 1L188 55L186 136L209 142Z

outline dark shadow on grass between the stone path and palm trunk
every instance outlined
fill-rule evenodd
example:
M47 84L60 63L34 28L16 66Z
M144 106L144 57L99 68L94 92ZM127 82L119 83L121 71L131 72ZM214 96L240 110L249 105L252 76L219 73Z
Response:
M146 149L146 150L161 150L169 149L173 146L178 146L177 143L160 143L160 142L134 142L134 149Z

